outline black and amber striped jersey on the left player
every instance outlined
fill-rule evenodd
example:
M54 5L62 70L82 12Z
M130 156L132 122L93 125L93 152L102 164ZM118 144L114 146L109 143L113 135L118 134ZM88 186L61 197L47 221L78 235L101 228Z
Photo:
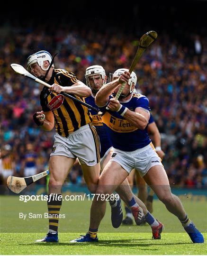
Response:
M68 72L64 69L54 69L53 75L48 83L50 85L57 83L61 86L71 86L76 82L78 82L78 79L72 72ZM50 102L55 95L57 95L57 93L48 91L48 88L44 86L40 93L40 104L43 111L51 111L48 108L48 102ZM74 94L71 95L80 101L84 101L81 97ZM60 108L52 110L52 112L56 132L63 137L68 137L69 133L78 130L81 126L89 124L92 121L88 108L68 97L64 98Z

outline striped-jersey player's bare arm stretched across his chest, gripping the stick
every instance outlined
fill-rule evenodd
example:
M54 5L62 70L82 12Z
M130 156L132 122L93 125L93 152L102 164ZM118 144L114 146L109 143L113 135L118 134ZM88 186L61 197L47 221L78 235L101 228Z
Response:
M81 81L74 83L72 86L61 86L54 83L48 90L55 91L56 93L63 91L69 94L75 94L79 97L89 97L92 94L91 89Z

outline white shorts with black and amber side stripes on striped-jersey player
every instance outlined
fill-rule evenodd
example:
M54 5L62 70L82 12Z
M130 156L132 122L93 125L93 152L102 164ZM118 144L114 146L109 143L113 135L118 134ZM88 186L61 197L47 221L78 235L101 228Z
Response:
M50 156L64 155L70 158L78 157L81 164L94 166L100 161L100 143L96 128L91 124L63 137L54 135L54 146Z

